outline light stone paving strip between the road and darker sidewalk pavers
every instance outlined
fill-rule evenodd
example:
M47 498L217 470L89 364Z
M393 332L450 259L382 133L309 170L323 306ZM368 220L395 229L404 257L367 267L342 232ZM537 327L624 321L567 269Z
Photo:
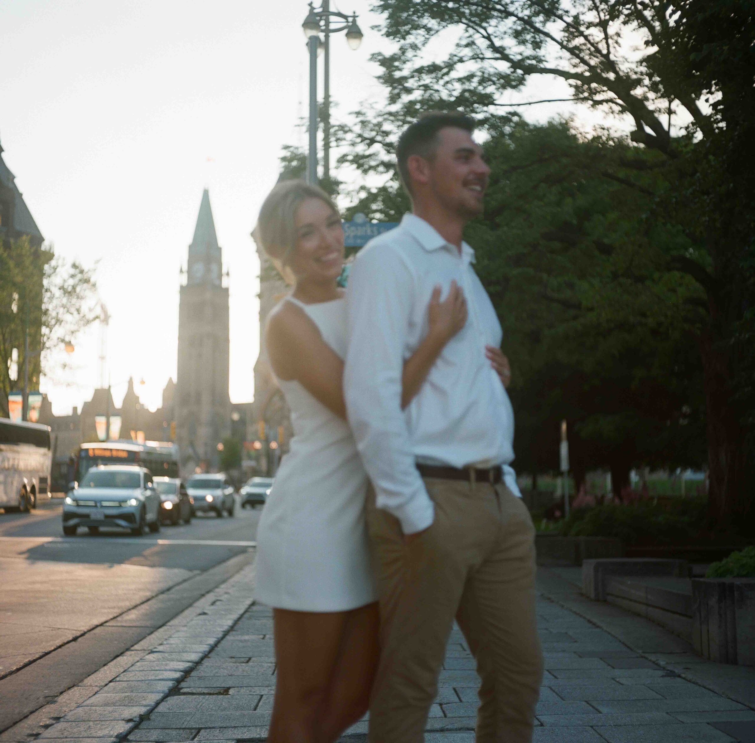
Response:
M11 728L0 741L117 743L205 659L252 603L254 562L15 726L28 732L14 734ZM36 723L35 730L28 723Z

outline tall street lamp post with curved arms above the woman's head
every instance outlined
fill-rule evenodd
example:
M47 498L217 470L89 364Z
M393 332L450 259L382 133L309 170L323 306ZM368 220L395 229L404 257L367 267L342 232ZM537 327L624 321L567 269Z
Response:
M331 19L341 21L341 26L331 26ZM317 51L322 31L325 70L322 101L322 177L330 179L330 35L346 32L350 48L356 50L362 43L362 29L356 23L356 13L347 15L331 11L330 0L322 0L319 10L310 2L310 12L301 24L310 48L310 151L307 153L307 183L317 183ZM316 41L313 41L316 39Z

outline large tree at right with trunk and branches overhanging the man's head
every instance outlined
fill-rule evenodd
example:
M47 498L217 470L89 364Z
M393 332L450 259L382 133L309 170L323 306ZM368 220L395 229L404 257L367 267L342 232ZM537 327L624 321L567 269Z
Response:
M356 151L344 161L376 175L384 168L380 208L396 193L387 158L396 130L428 108L476 112L495 130L502 111L532 103L512 103L510 94L546 75L565 82L569 100L633 125L637 154L627 143L604 176L646 198L646 228L664 232L663 250L654 242L648 253L654 281L638 282L638 294L664 286L668 298L682 277L698 290L697 298L683 292L676 321L704 370L710 506L720 520L753 516L753 415L742 404L755 376L747 345L755 326L752 169L737 157L752 147L748 8L744 0L378 0L384 33L398 45L374 56L387 106L362 112L357 130L344 134ZM428 60L425 48L439 34L454 35L455 47ZM740 67L729 75L734 62Z

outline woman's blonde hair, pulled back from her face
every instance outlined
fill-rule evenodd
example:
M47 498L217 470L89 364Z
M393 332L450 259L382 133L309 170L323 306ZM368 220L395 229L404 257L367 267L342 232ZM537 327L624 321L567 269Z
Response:
M296 249L296 212L308 198L319 198L338 213L333 200L319 186L284 180L267 195L257 219L257 234L276 266L287 266Z

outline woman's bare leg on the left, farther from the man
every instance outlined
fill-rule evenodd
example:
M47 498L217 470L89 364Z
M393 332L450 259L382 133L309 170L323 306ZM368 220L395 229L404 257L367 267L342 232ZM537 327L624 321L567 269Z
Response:
M277 667L269 743L319 743L348 614L273 609Z

